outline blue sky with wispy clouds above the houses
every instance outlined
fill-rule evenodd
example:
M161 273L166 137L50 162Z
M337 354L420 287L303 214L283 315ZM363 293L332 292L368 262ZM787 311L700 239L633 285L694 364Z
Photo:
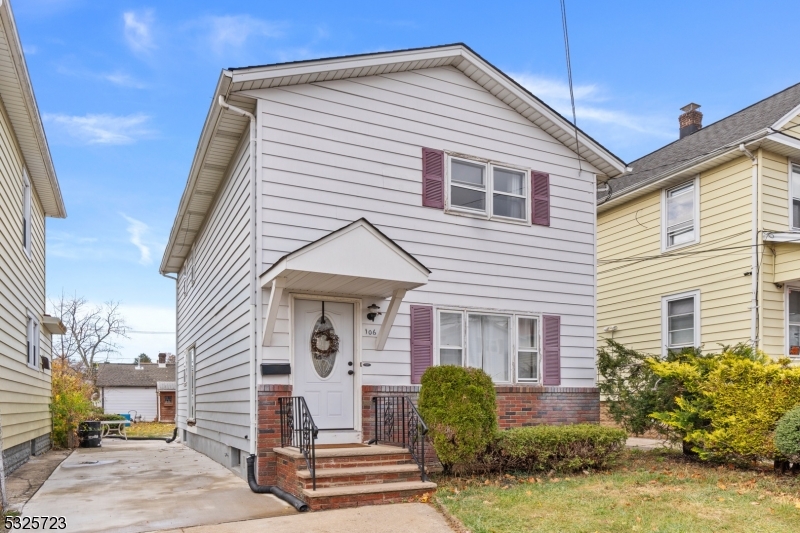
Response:
M569 110L558 0L16 0L69 217L48 221L48 295L119 300L113 361L174 351L164 245L222 68L465 42ZM567 0L578 124L625 161L800 82L800 3Z

